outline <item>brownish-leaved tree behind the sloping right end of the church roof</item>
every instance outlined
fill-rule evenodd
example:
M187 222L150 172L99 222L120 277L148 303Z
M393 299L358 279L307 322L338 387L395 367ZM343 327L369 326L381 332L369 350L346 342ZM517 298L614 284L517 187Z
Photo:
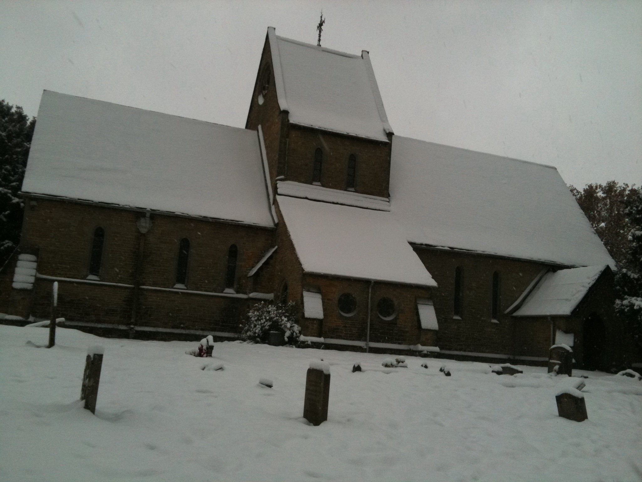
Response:
M639 188L609 181L606 184L587 184L582 191L574 186L569 186L569 189L611 258L618 267L627 267L628 238L632 226L625 213L625 203L639 195Z

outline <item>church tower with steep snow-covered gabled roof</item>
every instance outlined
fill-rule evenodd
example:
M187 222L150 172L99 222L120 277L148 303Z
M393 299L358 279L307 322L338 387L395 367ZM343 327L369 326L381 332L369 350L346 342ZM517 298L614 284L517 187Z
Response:
M393 131L367 51L351 55L268 28L246 129L259 125L275 182L389 196Z

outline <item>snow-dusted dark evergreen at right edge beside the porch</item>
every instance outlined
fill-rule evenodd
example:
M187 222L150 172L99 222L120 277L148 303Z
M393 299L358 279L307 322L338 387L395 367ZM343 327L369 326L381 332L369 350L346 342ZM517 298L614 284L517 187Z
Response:
M642 348L642 190L625 201L625 214L631 229L629 259L626 268L620 269L615 277L618 299L616 313L623 317L639 348Z

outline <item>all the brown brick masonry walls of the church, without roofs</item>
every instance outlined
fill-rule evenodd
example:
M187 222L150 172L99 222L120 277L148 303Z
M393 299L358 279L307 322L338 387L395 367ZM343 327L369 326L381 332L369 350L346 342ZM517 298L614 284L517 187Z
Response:
M265 67L270 69L270 85L263 102L259 103L259 75ZM322 186L345 190L348 158L354 154L357 159L356 192L388 197L392 143L291 124L288 112L281 112L277 102L267 37L246 128L257 130L259 125L263 130L273 188L279 175L291 181L311 183L314 153L321 148L324 152ZM37 280L30 291L11 287L17 254L23 252L37 254L40 274L78 280L60 281L59 316L71 321L239 332L245 312L257 301L222 296L227 254L230 245L236 244L238 260L234 289L237 293L266 292L280 299L287 286L285 301L295 303L305 335L353 341L365 341L367 337L370 281L306 274L282 220L278 202L275 208L279 222L275 229L152 213L152 228L143 237L136 227L137 220L144 215L141 212L50 199L27 198L26 201L21 245L0 271L0 311L22 317L30 314L49 316L51 280ZM105 229L100 281L126 286L82 282L89 274L92 238L98 226ZM182 238L187 238L190 244L186 288L201 294L174 289L178 245ZM155 289L143 288L135 294L133 285L137 281L143 240L138 279L143 287ZM248 278L250 269L275 245L277 251ZM551 334L559 328L575 333L575 356L581 364L584 320L596 314L605 325L601 366L626 362L627 353L632 352L625 330L613 314L612 274L605 274L596 283L570 317L516 318L505 315L505 310L548 265L462 251L419 246L414 249L438 287L428 289L375 282L370 308L372 342L421 343L458 352L546 357ZM456 267L463 270L463 314L460 319L453 316ZM496 320L491 320L494 272L498 272L500 279L499 314ZM304 318L303 290L322 293L323 320ZM338 310L338 297L344 292L357 299L357 310L352 316L344 316ZM377 314L377 301L383 296L394 300L394 319L386 321ZM421 329L417 298L433 299L438 331ZM136 299L137 311L133 319ZM181 336L166 335L169 338Z

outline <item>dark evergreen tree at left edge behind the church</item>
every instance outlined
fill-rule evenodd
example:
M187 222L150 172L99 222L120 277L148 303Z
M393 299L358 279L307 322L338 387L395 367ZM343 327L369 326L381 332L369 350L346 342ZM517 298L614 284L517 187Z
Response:
M0 100L0 266L20 242L24 202L17 197L24 179L35 117Z

